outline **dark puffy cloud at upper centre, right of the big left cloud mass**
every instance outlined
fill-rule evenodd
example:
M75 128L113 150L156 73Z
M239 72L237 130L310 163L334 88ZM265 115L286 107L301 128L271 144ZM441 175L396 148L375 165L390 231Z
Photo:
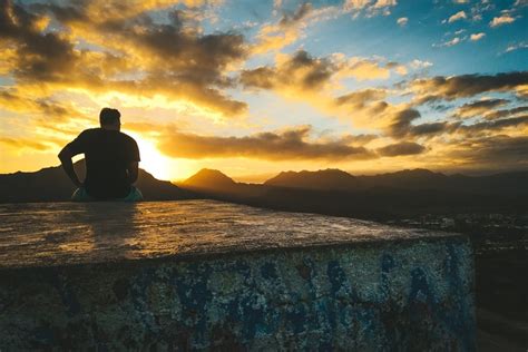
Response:
M300 90L315 90L326 84L334 72L329 60L312 58L306 51L300 50L278 67L243 70L241 82L248 88L273 89L289 86Z

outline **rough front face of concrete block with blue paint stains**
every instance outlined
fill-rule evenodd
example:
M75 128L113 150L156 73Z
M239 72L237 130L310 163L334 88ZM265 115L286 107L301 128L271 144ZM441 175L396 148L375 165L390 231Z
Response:
M472 351L465 237L0 270L0 350Z

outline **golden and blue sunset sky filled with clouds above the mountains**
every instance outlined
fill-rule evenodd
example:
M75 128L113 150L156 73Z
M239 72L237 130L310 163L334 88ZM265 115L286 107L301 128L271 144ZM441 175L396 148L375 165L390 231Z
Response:
M0 173L102 107L160 179L528 168L527 0L0 4Z

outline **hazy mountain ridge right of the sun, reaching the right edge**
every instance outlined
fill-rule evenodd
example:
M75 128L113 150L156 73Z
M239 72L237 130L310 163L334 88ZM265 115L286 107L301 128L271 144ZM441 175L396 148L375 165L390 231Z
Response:
M213 199L370 219L528 208L528 172L472 177L405 169L352 176L325 169L281 173L258 185L235 183L218 170L207 169L178 185Z

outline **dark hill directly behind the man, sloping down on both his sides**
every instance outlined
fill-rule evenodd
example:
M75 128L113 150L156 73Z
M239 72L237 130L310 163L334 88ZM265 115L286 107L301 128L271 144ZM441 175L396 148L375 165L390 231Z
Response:
M85 176L85 160L75 163L80 179ZM141 189L146 201L170 201L195 198L189 190L182 189L169 182L156 179L139 169L136 186ZM60 202L68 201L75 190L62 167L47 167L35 173L13 173L0 175L0 203Z

